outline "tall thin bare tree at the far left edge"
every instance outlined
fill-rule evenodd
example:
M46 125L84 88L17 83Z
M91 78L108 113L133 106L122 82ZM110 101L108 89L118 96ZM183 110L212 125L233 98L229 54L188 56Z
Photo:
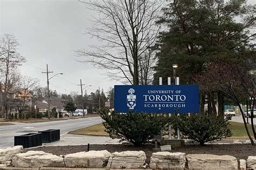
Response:
M8 110L4 104L7 103L9 90L15 86L18 78L15 69L25 62L25 58L17 52L18 46L19 43L14 35L4 34L0 37L0 71L4 75L2 114L5 112L5 115Z

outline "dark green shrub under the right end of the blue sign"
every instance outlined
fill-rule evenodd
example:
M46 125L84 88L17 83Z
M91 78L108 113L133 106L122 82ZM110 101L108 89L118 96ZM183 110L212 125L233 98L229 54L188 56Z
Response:
M200 145L207 141L231 137L231 130L228 129L229 118L215 115L191 114L180 115L178 126L183 138L194 139Z

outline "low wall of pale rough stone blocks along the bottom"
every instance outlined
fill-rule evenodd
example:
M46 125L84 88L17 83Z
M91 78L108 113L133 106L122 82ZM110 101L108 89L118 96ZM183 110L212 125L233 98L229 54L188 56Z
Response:
M22 146L0 150L0 169L71 169L71 168L146 168L143 151L110 153L89 151L67 154L63 157L43 151L23 151ZM6 163L8 162L8 163ZM15 167L12 168L11 167ZM9 166L9 167L6 167ZM55 167L55 168L53 168ZM148 168L148 167L147 167ZM230 155L188 154L180 152L156 152L152 154L152 169L256 169L256 156L247 160Z

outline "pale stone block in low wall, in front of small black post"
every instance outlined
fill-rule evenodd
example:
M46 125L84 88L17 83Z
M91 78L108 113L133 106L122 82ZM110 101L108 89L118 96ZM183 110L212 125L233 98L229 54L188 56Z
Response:
M67 154L64 156L66 167L103 168L106 167L111 153L104 151L89 151Z

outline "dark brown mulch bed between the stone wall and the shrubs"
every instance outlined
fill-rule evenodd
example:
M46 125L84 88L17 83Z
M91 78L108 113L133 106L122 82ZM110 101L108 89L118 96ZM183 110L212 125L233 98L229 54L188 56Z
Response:
M149 164L152 155L152 148L154 145L146 144L144 146L135 147L130 144L108 144L108 145L90 145L90 151L107 150L110 153L122 151L144 151L147 156L146 163ZM44 151L56 155L65 155L69 153L76 153L87 151L87 145L78 146L43 146L38 148L28 148L27 151ZM205 146L185 146L179 148L172 148L171 152L184 152L186 154L215 154L215 155L232 155L239 159L247 159L248 156L256 156L256 146L250 144L213 144Z

